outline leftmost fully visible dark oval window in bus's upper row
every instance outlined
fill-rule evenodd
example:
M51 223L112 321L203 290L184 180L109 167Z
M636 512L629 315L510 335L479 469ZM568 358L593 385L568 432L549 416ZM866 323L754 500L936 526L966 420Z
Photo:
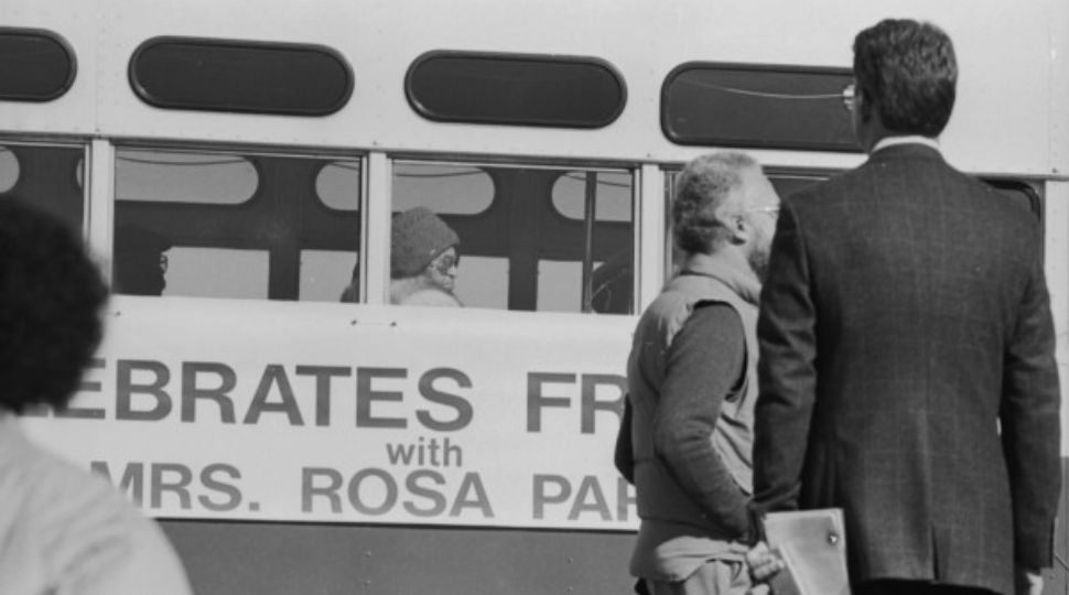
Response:
M141 100L168 109L326 116L353 93L345 58L310 44L155 37L129 76Z

